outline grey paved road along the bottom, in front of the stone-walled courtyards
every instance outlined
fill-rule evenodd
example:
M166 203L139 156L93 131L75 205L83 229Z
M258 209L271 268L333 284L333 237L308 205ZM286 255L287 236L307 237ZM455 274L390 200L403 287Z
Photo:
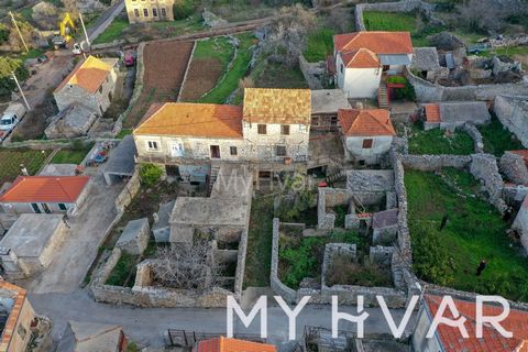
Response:
M198 332L226 333L226 309L196 308L135 308L131 306L113 306L98 304L86 290L72 294L30 294L35 311L53 320L52 337L59 339L68 320L97 323L120 324L124 332L135 342L151 346L163 346L167 329L185 329ZM272 306L271 301L268 301ZM340 307L339 311L355 314L355 307ZM389 332L385 318L380 309L369 308L371 315L365 322L365 333ZM277 306L267 310L268 340L280 344L288 337L288 320ZM397 323L402 320L403 310L393 310ZM237 319L238 320L238 319ZM237 321L235 320L235 321ZM239 321L235 333L260 333L260 317L245 329ZM409 322L414 327L415 317ZM297 319L297 337L301 337L305 326L331 328L330 306L307 306ZM355 324L343 321L342 330L355 331Z

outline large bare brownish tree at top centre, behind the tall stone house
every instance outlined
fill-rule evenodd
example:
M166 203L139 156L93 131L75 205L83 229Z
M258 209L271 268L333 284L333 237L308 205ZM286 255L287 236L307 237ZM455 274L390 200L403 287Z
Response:
M315 14L302 6L282 8L278 16L270 24L263 52L272 61L294 66L306 48L308 32L315 26Z

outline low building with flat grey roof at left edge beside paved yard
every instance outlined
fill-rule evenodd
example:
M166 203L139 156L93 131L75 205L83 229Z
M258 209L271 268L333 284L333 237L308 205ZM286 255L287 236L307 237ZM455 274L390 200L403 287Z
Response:
M0 261L11 279L30 277L46 268L66 237L62 215L25 213L0 240Z

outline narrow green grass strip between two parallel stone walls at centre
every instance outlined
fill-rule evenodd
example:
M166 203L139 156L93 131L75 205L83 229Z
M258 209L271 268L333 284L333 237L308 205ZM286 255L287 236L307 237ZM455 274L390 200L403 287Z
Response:
M261 196L251 205L244 286L270 286L273 241L273 198Z

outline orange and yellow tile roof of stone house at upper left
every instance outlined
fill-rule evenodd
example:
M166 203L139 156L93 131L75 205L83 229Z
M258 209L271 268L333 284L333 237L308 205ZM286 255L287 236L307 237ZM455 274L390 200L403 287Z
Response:
M113 67L106 62L90 55L75 66L74 70L58 85L55 92L66 85L76 85L95 94L112 69Z

